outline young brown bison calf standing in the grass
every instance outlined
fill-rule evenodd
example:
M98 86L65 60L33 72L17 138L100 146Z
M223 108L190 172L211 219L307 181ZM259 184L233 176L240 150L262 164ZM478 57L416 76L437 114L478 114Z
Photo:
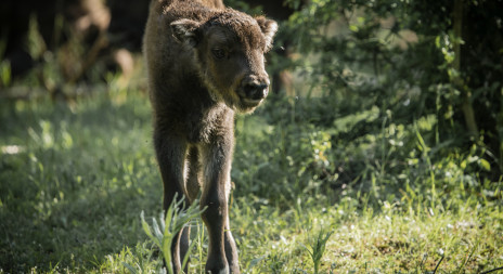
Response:
M240 273L228 217L234 113L250 113L267 96L263 54L276 29L274 21L225 9L221 0L151 3L144 55L164 209L176 193L192 203L202 187L212 274ZM172 246L177 273L189 235L185 227Z

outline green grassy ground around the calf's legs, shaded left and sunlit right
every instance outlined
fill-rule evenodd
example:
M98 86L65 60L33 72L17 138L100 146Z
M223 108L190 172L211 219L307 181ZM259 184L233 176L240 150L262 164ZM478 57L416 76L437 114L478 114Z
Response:
M485 175L479 148L437 153L430 117L408 126L370 108L320 126L323 104L268 104L236 120L231 227L244 273L503 266L502 180ZM0 273L155 273L140 220L160 213L151 133L134 92L0 102ZM207 237L193 225L190 273L203 273Z

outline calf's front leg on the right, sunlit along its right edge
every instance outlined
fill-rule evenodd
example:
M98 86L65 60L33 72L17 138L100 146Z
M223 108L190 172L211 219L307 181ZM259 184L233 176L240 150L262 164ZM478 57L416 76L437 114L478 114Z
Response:
M232 148L232 134L221 136L217 141L201 147L204 166L201 207L208 207L202 216L209 234L206 273L240 273L237 249L230 231L227 230L229 227L228 201ZM231 251L232 255L225 256L225 251Z

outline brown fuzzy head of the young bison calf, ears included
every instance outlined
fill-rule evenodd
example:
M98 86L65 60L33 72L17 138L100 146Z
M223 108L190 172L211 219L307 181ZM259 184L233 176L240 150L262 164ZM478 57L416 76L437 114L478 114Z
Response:
M191 51L212 99L243 113L253 112L269 92L263 54L278 24L227 9L206 22L171 23L176 39Z

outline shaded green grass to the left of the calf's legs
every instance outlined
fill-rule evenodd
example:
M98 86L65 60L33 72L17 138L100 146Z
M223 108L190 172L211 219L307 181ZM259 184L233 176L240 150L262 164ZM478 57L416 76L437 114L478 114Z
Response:
M146 97L0 109L0 269L83 270L144 238L162 198Z

